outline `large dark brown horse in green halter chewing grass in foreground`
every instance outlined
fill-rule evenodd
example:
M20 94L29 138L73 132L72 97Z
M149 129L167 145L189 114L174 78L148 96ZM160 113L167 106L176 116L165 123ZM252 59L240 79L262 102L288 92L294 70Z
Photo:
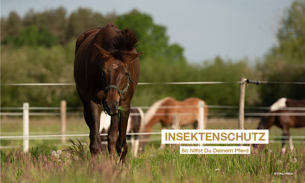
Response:
M138 38L129 29L118 30L113 23L81 34L76 41L74 79L84 106L84 118L90 129L90 152L101 152L99 135L102 109L111 116L108 150L115 150L124 163L127 154L126 129L130 101L139 81L140 64L135 46ZM118 116L118 106L127 110Z

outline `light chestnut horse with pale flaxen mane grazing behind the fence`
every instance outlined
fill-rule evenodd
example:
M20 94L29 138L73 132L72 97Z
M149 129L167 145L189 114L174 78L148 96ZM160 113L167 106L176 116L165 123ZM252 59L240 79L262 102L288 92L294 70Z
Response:
M151 132L152 126L159 121L162 124L162 129L167 129L172 125L173 115L179 114L180 125L185 126L193 124L197 127L198 120L198 104L203 101L198 98L188 98L183 101L177 101L171 97L167 97L155 102L145 115L145 132ZM208 109L204 102L204 118L207 119ZM206 121L206 120L205 120ZM206 124L206 123L205 123Z

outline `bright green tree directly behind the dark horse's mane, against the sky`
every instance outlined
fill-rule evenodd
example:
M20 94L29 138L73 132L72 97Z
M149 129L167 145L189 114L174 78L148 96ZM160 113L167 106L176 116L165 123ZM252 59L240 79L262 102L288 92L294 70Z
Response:
M144 52L141 59L155 59L155 63L162 59L162 62L166 60L171 65L185 65L183 48L178 44L169 44L166 27L154 23L152 16L134 9L130 13L118 16L115 24L119 29L128 27L135 31L139 38L137 50Z

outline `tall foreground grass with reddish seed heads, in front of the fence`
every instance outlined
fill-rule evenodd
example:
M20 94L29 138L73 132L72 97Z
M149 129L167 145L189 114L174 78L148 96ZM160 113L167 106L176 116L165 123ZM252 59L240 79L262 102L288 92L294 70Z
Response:
M75 153L88 154L78 142ZM80 146L79 146L80 145ZM107 153L96 159L75 159L63 152L59 158L41 152L33 155L13 150L1 157L3 182L287 182L305 181L305 148L284 153L271 145L251 154L180 154L178 146L158 150L153 146L139 156L127 155L125 164ZM117 157L118 158L118 157ZM295 159L294 159L295 158ZM295 161L296 160L296 161ZM218 170L219 169L219 170ZM290 172L293 175L274 175Z

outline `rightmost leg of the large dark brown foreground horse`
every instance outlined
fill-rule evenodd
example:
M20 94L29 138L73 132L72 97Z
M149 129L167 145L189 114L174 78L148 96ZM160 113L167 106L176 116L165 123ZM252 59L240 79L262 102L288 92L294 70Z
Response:
M130 113L130 104L126 106L126 110L121 112L120 119L119 119L119 137L117 140L117 153L119 154L120 160L122 163L125 162L125 157L127 155L128 146L126 143L126 130L127 130L127 123Z

